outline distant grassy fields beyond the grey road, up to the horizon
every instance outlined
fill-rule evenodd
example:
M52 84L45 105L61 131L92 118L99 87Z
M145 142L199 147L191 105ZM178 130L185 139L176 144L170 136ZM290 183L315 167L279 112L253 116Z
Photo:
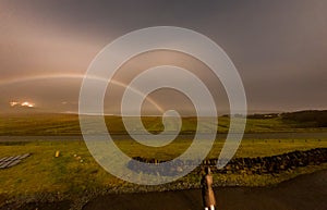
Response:
M249 115L245 132L327 132L327 127L324 126L326 113L327 111L310 111ZM105 120L110 133L126 133L120 116L106 116ZM135 118L129 118L132 123L135 120ZM159 133L164 129L160 116L143 116L142 121L152 133ZM140 126L135 123L134 132L140 131ZM196 126L196 118L183 118L181 133L193 133ZM201 126L205 131L210 131L214 125L204 123ZM220 116L218 119L218 133L227 133L228 129L229 116ZM55 113L0 114L0 135L81 135L78 115Z

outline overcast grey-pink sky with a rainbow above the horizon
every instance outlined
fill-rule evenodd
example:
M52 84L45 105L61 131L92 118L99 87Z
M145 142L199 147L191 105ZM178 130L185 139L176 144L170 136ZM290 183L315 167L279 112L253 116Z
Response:
M82 77L95 55L129 32L162 25L196 30L222 47L242 77L251 111L327 108L325 0L1 0L0 109L28 101L45 111L77 111ZM217 107L226 110L219 82L191 60L173 52L144 54L116 79L128 83L148 62L178 64L193 69L210 89L218 89L213 92ZM116 86L106 97L108 113L117 112L123 92ZM190 103L171 90L150 97L153 103L145 104L149 110L154 104L165 110Z

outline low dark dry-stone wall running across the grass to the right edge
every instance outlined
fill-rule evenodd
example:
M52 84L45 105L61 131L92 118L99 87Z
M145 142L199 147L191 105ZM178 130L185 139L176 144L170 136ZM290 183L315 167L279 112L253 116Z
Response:
M223 169L216 168L218 159L206 159L204 161L174 160L170 162L142 157L133 159L136 161L130 161L129 169L137 173L154 175L179 175L198 164L201 166L197 166L195 172L199 172L204 166L210 166L213 173L277 174L300 166L317 165L327 162L327 148L316 148L306 151L296 150L271 157L234 158ZM140 162L147 164L141 164ZM164 162L166 162L166 165L159 166L158 163Z

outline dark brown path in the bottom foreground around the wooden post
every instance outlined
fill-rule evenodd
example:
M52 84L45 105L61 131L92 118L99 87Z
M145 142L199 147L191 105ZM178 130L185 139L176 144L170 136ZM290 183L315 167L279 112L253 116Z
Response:
M271 188L216 188L218 210L326 210L327 171L302 175ZM88 202L83 210L197 210L198 189L108 195Z

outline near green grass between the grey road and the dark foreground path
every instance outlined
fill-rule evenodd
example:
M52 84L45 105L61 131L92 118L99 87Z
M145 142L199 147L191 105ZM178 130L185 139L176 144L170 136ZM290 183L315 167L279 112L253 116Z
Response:
M177 140L158 149L149 149L131 140L119 140L117 145L130 157L170 159L183 152L190 140ZM217 157L221 146L222 141L217 140L208 158ZM272 156L317 147L327 147L327 139L243 140L235 157ZM118 188L135 187L101 169L83 141L1 143L0 150L1 157L32 153L19 165L0 171L0 195L7 198L47 193L57 197L80 197L85 192L104 188L114 188L119 192ZM57 150L60 151L60 157L55 158ZM319 169L327 169L327 165L298 169L293 173L277 176L217 174L215 181L217 185L223 181L231 184L241 183L244 186L265 186ZM198 178L199 174L191 174L180 182L198 183Z

